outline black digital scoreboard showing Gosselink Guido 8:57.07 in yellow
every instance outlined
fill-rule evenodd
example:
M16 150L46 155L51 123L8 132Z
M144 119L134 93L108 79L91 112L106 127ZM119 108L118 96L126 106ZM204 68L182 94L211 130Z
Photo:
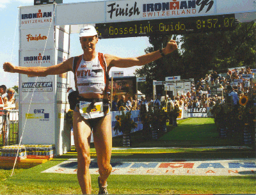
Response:
M182 35L235 29L235 15L137 20L96 24L99 38L123 38L150 35Z

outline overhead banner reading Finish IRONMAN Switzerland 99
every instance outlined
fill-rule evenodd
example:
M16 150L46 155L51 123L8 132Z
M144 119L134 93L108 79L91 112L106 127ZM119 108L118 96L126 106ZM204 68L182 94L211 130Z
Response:
M107 1L106 20L124 21L214 14L214 1Z

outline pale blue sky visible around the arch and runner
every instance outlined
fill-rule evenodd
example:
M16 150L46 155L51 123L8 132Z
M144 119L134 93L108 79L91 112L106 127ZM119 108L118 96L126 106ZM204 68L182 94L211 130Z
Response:
M93 0L90 0L93 1ZM63 3L86 2L86 0L63 0ZM10 74L3 71L3 63L10 61L19 65L19 6L33 6L33 0L0 0L0 85L7 88L19 85L19 74ZM145 54L145 49L150 47L147 37L102 39L97 43L97 51L113 54L120 57L136 57ZM83 51L80 47L78 34L70 36L70 57L78 56ZM135 69L111 68L111 71L124 71L124 76L134 75ZM111 75L111 72L110 72ZM74 87L74 83L71 83Z

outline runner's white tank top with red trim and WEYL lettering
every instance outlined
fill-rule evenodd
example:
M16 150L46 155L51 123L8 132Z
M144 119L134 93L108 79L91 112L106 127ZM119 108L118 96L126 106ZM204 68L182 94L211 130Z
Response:
M79 56L74 67L76 67L74 68L76 88L80 94L104 93L106 61L103 54L98 53L92 61L84 61L83 56Z

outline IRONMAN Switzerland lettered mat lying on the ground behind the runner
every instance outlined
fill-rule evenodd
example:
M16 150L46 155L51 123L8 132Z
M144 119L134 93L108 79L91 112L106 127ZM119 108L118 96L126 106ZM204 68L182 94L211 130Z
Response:
M245 176L256 174L255 159L111 159L111 175L201 175ZM91 159L90 174L99 175L97 159ZM77 159L68 159L42 173L77 174Z

